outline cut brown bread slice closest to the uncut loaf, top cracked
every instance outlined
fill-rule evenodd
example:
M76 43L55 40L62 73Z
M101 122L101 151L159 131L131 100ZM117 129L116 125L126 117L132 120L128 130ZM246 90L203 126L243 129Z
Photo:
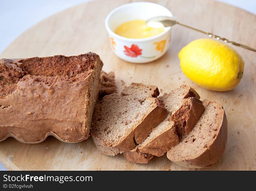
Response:
M101 153L114 156L141 143L167 116L156 86L132 83L122 95L103 97L95 107L91 135Z

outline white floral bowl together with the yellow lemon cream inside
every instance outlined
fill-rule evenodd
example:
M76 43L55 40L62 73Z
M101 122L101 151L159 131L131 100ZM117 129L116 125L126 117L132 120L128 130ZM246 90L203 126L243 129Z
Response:
M128 3L106 17L105 26L113 52L133 63L147 63L163 56L171 41L171 27L152 28L145 21L173 16L165 7L149 2Z

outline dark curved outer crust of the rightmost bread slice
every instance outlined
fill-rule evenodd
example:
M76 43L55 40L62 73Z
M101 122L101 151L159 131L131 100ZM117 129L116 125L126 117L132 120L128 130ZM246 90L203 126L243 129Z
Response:
M205 151L200 153L200 155L196 156L195 158L174 160L168 151L167 157L177 165L187 168L211 167L212 165L217 163L223 155L227 143L227 117L223 107L221 114L222 120L221 122L219 122L220 128L218 134L216 135L214 141L207 147Z

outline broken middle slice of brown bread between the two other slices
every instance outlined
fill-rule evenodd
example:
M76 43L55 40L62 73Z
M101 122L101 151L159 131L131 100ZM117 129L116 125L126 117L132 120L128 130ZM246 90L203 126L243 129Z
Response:
M202 115L204 106L199 98L197 92L187 85L159 97L169 112L168 117L135 149L124 152L127 160L145 163L150 157L147 155L145 160L142 153L162 156L174 147L179 142L179 137L188 134Z

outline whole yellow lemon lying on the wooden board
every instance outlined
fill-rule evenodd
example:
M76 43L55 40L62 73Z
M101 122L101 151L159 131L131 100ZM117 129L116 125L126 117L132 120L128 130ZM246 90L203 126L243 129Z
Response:
M190 42L179 52L184 74L203 88L227 91L236 87L243 76L242 57L225 43L212 39Z

